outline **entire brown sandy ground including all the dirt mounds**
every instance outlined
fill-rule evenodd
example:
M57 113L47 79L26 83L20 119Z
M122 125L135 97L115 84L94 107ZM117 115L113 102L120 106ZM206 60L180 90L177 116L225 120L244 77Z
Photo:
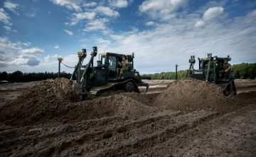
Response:
M256 80L198 80L74 102L72 82L0 85L0 156L256 156ZM144 90L140 88L140 90Z

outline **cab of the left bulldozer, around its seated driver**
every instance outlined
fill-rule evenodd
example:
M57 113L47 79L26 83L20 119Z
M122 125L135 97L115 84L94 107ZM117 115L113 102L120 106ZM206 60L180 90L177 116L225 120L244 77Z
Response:
M129 71L134 70L134 55L122 55L117 53L102 53L100 66L103 66L107 70L107 78L114 79L117 77L117 68L122 68L118 63L122 61L122 56L125 56L128 61L128 70L124 72L124 75L127 75Z

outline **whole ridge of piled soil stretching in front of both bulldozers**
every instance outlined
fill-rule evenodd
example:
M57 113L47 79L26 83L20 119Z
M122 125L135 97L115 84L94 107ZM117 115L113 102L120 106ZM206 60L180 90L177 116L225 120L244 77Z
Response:
M102 117L138 119L166 109L230 111L234 101L220 87L200 80L180 80L159 94L121 93L75 102L73 81L45 80L1 107L0 121L12 125L72 123Z

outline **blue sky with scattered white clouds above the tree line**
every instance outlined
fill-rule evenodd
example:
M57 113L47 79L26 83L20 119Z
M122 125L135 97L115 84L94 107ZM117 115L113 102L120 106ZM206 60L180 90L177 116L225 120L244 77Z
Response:
M142 74L186 70L207 53L256 63L256 1L0 0L0 71L57 72L58 57L75 67L93 46L134 53Z

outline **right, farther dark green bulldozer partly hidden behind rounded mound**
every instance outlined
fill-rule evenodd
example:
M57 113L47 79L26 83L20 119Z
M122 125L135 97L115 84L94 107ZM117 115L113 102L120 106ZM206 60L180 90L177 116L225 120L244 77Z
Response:
M227 58L218 58L218 56L213 56L212 53L208 53L207 57L198 58L199 69L195 70L195 56L191 55L191 58L189 59L190 66L187 77L212 82L221 87L221 90L225 96L234 96L236 94L234 82L235 74L233 70L230 70L224 74L223 63L225 60L230 61L230 56L228 55Z

